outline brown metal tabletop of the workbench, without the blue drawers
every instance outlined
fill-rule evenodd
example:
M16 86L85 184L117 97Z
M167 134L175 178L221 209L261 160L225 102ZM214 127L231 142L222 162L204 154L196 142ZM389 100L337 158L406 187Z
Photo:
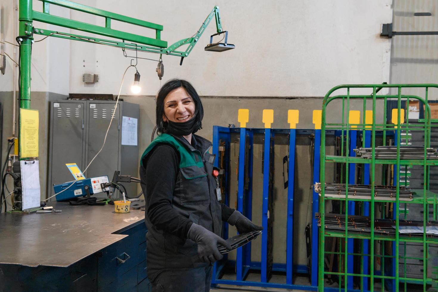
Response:
M113 205L50 203L61 213L0 214L0 264L68 267L127 235L145 222L145 211L115 213Z

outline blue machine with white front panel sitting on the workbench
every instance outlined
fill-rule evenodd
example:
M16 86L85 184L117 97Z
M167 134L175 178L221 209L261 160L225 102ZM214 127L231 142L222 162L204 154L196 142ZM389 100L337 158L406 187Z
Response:
M108 182L109 182L108 176L97 176L89 179L80 179L76 181L54 185L53 190L55 191L55 194L59 193L56 195L56 200L58 202L68 201L76 197L86 196L87 190L85 186L88 186L88 191L90 192L90 194L109 191L109 187L106 187L105 189L102 190L102 187L100 186L101 183L108 183Z

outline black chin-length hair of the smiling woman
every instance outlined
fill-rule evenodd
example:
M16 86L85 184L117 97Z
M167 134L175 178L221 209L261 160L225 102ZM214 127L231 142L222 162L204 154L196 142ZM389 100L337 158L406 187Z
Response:
M154 130L152 131L152 139L154 139L155 129L158 133L166 133L167 132L167 122L163 120L164 113L164 99L170 93L170 91L177 88L184 88L187 93L191 96L194 102L194 117L195 119L195 131L202 129L202 118L204 117L204 108L202 107L201 99L199 98L198 92L194 89L193 85L183 79L171 79L167 81L157 93L156 96L156 108L155 108L155 119L156 125Z

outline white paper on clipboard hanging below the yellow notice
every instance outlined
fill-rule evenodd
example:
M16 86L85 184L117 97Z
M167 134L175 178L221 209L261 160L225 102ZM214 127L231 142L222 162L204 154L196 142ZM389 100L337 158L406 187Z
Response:
M23 209L32 209L40 206L39 161L21 160L21 190L23 193Z

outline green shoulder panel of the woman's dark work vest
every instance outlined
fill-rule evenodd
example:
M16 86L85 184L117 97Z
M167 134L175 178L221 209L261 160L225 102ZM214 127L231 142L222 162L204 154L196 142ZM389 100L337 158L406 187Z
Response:
M204 167L204 163L202 162L201 155L199 155L199 151L190 151L183 143L175 139L172 135L162 133L155 137L155 139L149 144L146 148L143 155L140 158L140 165L143 166L143 158L148 155L148 153L155 147L156 144L159 143L167 143L172 145L177 149L180 153L180 168L189 167L189 166L198 166Z

